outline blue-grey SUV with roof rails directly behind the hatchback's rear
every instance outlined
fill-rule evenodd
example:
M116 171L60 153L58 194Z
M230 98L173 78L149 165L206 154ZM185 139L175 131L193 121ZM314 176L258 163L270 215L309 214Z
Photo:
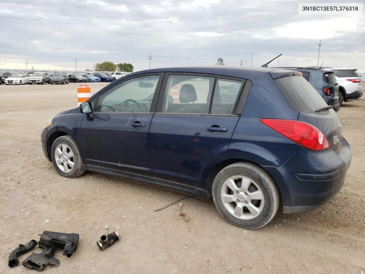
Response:
M279 67L299 71L319 93L323 100L337 112L340 109L338 83L334 70L312 67Z

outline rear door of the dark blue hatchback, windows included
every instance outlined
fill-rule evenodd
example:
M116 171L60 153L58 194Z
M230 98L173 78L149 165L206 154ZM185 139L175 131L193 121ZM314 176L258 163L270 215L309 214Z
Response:
M244 82L165 74L150 127L153 176L200 187L204 170L230 144L239 119L233 111Z

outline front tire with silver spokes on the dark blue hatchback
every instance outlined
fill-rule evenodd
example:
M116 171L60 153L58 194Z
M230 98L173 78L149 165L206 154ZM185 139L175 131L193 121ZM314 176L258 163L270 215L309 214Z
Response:
M67 146L67 148L66 148L65 151L63 151L63 148L66 147L65 145ZM69 154L70 152L72 152L73 157L70 157L69 159L70 159L70 161L73 160L74 165L73 165L73 167L70 171L65 170L65 169L62 170L57 164L60 161L56 162L55 150L58 146L61 146L61 151L63 153ZM75 178L75 177L81 176L82 174L85 173L84 168L82 168L82 161L81 161L80 152L78 151L78 148L77 148L77 145L76 145L75 141L69 135L61 136L61 137L58 137L56 140L54 140L54 142L52 144L52 147L51 147L51 159L52 159L52 163L53 163L53 166L54 166L55 170L57 170L57 172L61 176L64 176L64 177L67 177L67 178ZM62 159L63 158L61 157L60 160L62 160ZM61 166L65 166L65 163L62 162ZM66 164L66 166L67 166L66 168L71 167L69 164Z

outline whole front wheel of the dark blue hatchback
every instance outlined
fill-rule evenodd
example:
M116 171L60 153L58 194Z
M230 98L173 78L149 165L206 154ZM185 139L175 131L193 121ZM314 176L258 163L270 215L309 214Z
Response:
M64 177L75 178L85 172L77 145L68 135L54 140L51 147L51 158L54 168Z

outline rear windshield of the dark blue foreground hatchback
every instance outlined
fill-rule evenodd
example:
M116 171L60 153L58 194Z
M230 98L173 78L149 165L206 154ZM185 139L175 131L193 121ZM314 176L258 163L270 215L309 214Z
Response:
M275 80L291 107L297 111L316 113L327 106L312 85L301 76L288 76Z

